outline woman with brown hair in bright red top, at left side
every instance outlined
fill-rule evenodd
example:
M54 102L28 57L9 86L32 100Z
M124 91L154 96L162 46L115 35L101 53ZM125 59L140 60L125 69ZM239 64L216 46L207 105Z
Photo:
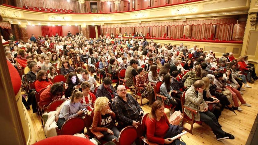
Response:
M40 92L43 88L48 88L53 83L47 78L46 71L39 71L35 82L35 90Z

